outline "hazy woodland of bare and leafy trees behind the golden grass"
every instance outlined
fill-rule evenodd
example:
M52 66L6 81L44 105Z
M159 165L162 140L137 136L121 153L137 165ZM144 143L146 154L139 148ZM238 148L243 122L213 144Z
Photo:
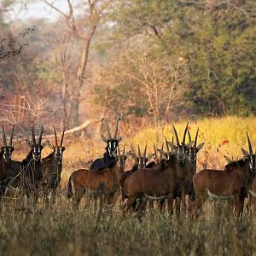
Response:
M17 4L38 2L59 18L14 17ZM0 3L1 124L23 130L64 120L72 128L123 113L125 125L137 130L255 115L256 2L62 0L63 9L55 3ZM14 49L20 54L4 55Z

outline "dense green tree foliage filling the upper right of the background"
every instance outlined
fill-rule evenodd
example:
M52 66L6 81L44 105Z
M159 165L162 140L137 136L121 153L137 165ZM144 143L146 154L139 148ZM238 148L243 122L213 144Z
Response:
M188 87L177 111L255 114L255 10L255 3L240 0L117 1L111 34L122 41L120 51L136 51L137 44L152 58L187 61Z

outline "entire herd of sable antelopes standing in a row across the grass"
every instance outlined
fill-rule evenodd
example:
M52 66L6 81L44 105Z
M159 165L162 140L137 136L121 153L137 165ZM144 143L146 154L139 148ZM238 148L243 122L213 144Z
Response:
M120 148L122 140L118 137L120 116L116 120L113 135L108 119L102 119L108 131L108 137L102 136L107 143L106 152L102 158L94 160L90 168L74 171L67 184L67 197L72 198L73 207L79 207L83 195L89 196L100 206L103 203L113 205L121 195L121 209L126 212L145 211L147 203L158 207L162 211L165 203L172 215L174 209L177 218L181 210L196 218L204 201L232 200L236 217L241 217L246 197L247 206L251 209L256 205L256 156L253 153L251 140L247 134L248 151L241 148L243 157L240 160L230 160L225 156L228 164L224 170L204 169L196 172L197 154L204 143L197 145L199 129L192 140L189 134L189 124L180 140L174 125L172 125L176 143L165 141L162 148L156 149L154 154L147 155L147 146L143 154L138 146L137 155L131 151L125 152ZM3 127L3 145L0 145L0 194L5 195L6 189L15 187L25 191L28 199L37 204L38 197L43 195L46 204L54 202L56 189L60 187L62 156L68 143L63 146L65 127L58 143L54 127L55 144L46 141L42 143L44 127L41 127L38 141L35 128L32 126L32 140L26 140L30 148L26 158L22 161L12 160L13 151L20 142L13 145L15 126L13 127L9 144ZM186 142L189 137L188 142ZM41 157L42 149L48 145L53 151L47 157ZM125 161L131 157L135 164L131 170L125 171ZM151 160L151 161L150 161ZM52 199L52 201L51 201Z

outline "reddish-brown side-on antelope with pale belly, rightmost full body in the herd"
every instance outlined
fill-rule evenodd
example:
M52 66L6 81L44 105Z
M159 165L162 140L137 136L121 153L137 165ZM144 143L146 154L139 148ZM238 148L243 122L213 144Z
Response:
M248 134L247 143L249 152L241 148L244 158L230 162L224 171L206 169L194 175L195 217L207 196L215 200L233 199L236 216L241 217L244 199L256 172L256 157Z

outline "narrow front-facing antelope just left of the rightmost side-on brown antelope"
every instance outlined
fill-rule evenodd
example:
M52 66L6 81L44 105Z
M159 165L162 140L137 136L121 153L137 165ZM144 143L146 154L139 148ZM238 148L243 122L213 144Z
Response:
M201 148L203 148L203 146L205 144L205 143L201 143L200 145L198 145L198 147L196 146L198 131L199 131L199 128L197 129L196 134L195 134L194 144L188 148L187 159L185 161L185 166L186 166L186 170L187 170L186 195L189 195L189 201L195 200L195 189L193 186L193 176L196 172L196 157L197 157L198 152L201 150ZM189 143L191 143L192 140L191 140L189 130L188 130L188 135L189 135Z

